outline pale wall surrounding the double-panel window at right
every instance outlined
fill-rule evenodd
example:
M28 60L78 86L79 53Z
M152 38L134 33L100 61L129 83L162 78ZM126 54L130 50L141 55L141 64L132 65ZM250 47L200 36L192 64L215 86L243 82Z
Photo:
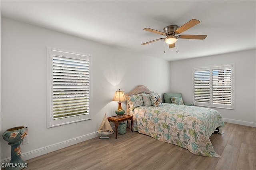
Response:
M184 101L193 100L193 68L235 65L235 110L217 109L224 121L256 127L256 50L170 62L170 88L181 92Z

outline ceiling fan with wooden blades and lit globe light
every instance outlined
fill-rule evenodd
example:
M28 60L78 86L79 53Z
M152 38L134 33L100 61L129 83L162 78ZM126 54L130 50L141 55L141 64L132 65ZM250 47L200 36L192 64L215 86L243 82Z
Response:
M159 38L156 40L152 40L150 42L142 43L142 45L164 39L164 42L169 44L169 48L173 48L173 47L175 47L175 42L177 41L178 38L204 40L207 37L206 35L178 35L178 36L176 36L177 34L180 34L199 23L200 23L200 21L198 21L196 19L192 19L189 22L187 22L186 24L184 24L183 26L181 26L180 28L178 28L178 26L176 26L176 25L166 26L166 27L164 27L164 32L153 30L151 28L144 28L143 30L145 30L145 31L153 32L156 34L161 34L163 36L166 36L166 38Z

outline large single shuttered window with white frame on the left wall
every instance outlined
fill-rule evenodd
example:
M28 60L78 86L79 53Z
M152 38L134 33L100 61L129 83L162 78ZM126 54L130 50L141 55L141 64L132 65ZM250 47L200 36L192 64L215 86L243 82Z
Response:
M47 126L91 119L91 57L47 48Z

